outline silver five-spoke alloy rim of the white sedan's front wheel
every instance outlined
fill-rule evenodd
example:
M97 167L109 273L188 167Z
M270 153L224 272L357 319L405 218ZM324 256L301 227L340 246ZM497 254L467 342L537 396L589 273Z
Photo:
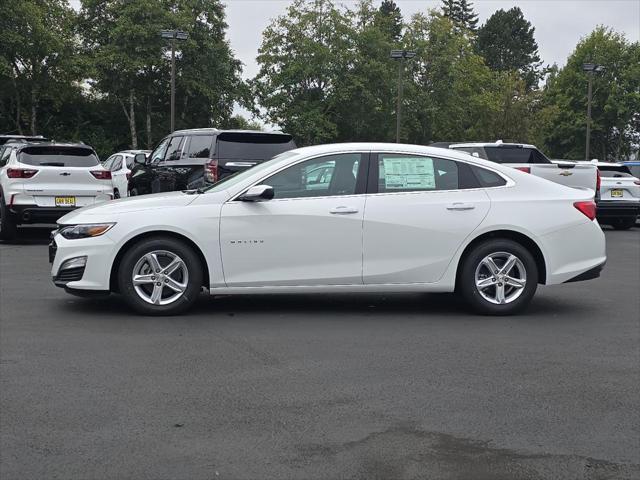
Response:
M184 295L189 284L189 270L175 253L154 250L136 262L132 281L136 293L145 302L169 305Z

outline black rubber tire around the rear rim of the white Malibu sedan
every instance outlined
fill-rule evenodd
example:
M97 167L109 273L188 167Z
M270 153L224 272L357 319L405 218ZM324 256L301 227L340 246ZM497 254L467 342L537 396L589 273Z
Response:
M508 258L503 254L514 255L519 260L520 263L517 263L515 268L519 278L526 278L524 288L518 289L509 285L508 282L512 281L509 278L506 282L499 283L504 279L503 274L499 273L493 276L493 274L488 274L489 270L484 266L486 264L481 266L483 260L492 255L495 255L496 259ZM504 263L500 264L498 261L494 263L498 267L504 265ZM522 272L519 272L521 268L524 269L524 277ZM504 288L503 292L512 292L515 298L503 304L492 303L484 298L483 294L480 293L480 289L476 287L477 272L485 280L495 282L495 285L485 287L482 290L485 296L490 297L493 294L495 296L494 300L497 299L497 289L498 285L500 285L501 288ZM459 273L460 275L457 279L458 291L475 312L483 315L512 315L521 311L529 304L538 287L538 267L533 255L521 244L508 239L491 239L473 247L473 250L464 256ZM486 278L487 276L491 278ZM515 292L517 290L522 291L516 295ZM510 294L503 293L503 296L508 299Z

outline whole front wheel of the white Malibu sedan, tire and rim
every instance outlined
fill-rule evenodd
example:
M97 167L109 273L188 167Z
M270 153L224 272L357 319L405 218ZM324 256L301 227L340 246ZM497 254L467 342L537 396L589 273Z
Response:
M176 315L191 307L200 293L201 262L180 240L147 238L125 253L118 284L127 303L139 313Z

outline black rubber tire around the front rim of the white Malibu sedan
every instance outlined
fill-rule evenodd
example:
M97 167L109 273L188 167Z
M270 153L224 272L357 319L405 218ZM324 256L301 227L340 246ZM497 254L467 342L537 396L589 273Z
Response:
M143 257L151 252L168 252L171 255L175 255L183 261L187 270L186 282L184 282L184 277L180 280L186 283L186 289L179 298L167 305L149 303L142 298L133 284L134 269L137 268L136 266L141 265L140 262L143 262L142 268L146 269L143 270L144 273L153 275L153 272L149 273L148 267L150 264L143 260ZM167 266L167 262L165 262L165 264L162 263L162 256L156 255L156 257L160 259L162 267ZM167 255L167 257L170 257L170 255ZM155 281L162 281L163 277L158 275L158 277L154 276L152 278L156 279L153 283L138 286L144 290L142 294L151 296L151 292L155 291L154 285L160 285L160 283L155 283ZM136 243L124 254L118 267L118 286L120 293L131 307L143 315L177 315L186 311L198 298L202 287L202 279L202 261L198 254L194 252L193 248L180 240L166 236L146 238L144 241ZM169 289L169 287L163 285L161 289L161 296L166 294L170 297L172 294L172 290ZM175 295L175 293L173 294Z

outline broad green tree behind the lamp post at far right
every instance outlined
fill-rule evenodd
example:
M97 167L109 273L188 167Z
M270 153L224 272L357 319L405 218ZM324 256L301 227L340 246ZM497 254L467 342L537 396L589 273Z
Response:
M557 158L584 158L588 77L582 64L588 62L605 67L593 77L591 156L628 157L640 139L640 43L605 27L580 41L566 66L549 76L538 113L540 142Z

